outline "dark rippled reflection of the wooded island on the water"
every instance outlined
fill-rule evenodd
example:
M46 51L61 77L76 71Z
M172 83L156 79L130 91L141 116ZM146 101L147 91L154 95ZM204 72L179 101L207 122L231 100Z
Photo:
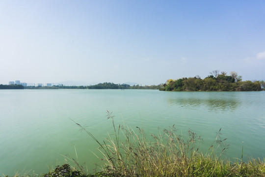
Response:
M187 109L203 107L209 111L234 111L241 101L236 98L168 98L169 106L181 106Z

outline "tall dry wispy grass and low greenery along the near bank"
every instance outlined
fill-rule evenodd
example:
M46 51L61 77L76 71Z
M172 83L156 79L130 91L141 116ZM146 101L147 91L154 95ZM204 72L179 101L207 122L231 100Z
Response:
M241 159L236 162L222 158L229 145L220 137L221 129L216 132L212 146L202 153L199 150L202 139L190 130L183 136L173 125L148 139L139 127L137 131L127 125L116 127L114 116L108 111L107 119L111 119L114 133L103 143L76 123L99 144L104 156L102 172L88 174L74 160L75 167L57 166L42 177L265 177L265 161L243 162L243 149Z

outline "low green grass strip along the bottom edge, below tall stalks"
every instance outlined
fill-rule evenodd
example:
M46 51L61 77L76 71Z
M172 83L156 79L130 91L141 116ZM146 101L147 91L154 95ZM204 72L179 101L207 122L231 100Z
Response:
M94 175L82 174L65 164L56 167L53 172L45 174L44 177L265 177L265 164L260 160L231 164L229 161L199 156L191 164L191 168L185 168L184 165L170 170L167 174L163 174L163 170L158 173L156 169L153 169L154 171L143 169L146 172L144 174L130 173L127 175L109 170L97 172Z

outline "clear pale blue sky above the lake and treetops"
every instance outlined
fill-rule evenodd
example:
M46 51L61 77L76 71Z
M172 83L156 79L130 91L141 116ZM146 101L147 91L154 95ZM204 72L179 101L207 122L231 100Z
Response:
M0 84L265 80L265 0L0 0Z

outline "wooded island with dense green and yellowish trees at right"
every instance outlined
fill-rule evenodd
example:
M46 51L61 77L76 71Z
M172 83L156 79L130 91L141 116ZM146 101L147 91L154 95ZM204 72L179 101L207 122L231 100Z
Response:
M214 70L211 75L201 79L200 76L169 79L159 90L165 91L261 91L264 89L264 81L242 81L242 76L237 72ZM263 88L262 88L263 87Z

